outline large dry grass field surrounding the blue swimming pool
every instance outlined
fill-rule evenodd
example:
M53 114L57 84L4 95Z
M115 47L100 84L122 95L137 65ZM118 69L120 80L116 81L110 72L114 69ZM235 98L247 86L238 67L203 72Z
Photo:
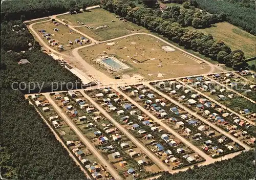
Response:
M123 77L125 75L141 75L146 79L163 79L203 74L209 71L208 65L199 64L180 51L166 52L162 50L166 44L148 35L134 35L113 42L115 44L112 46L101 43L97 46L83 48L79 50L79 53L83 59L104 73L108 70L96 63L95 59L103 55L103 51L106 53L104 56L115 55L131 67L114 73L114 75L123 74ZM146 61L139 63L134 59L140 62Z

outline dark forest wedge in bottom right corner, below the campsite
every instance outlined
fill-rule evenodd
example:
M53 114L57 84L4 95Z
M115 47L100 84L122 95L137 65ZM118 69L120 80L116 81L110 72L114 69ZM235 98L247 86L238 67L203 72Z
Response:
M254 162L253 162L254 161ZM255 152L242 152L231 160L224 160L207 166L194 166L185 172L165 173L157 180L180 179L255 179Z

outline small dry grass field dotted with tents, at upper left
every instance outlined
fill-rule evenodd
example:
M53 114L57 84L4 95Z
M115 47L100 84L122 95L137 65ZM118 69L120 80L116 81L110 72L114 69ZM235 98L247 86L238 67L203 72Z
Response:
M57 46L52 46L53 49L58 50L58 46L59 44L62 44L64 46L64 50L71 50L73 48L79 47L81 46L80 44L76 44L74 41L75 39L80 39L81 35L77 32L70 32L70 28L60 24L59 26L54 26L54 24L52 23L52 21L47 21L47 22L42 22L42 23L38 23L35 24L33 26L34 30L37 31L37 33L42 36L42 39L48 43L48 40L43 36L42 33L38 32L39 30L45 30L46 33L50 33L51 34L51 38L55 39L55 41L58 42ZM55 32L53 29L57 28L59 31ZM73 42L73 45L71 45L70 47L67 46L69 40L71 40ZM48 43L49 44L49 43ZM82 44L84 44L84 42L82 42Z

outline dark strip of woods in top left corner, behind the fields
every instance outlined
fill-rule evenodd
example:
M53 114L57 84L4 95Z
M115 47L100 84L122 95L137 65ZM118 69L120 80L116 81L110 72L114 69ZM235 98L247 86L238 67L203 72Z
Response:
M29 20L60 14L67 11L80 11L89 6L98 5L100 0L12 0L1 4L1 21ZM17 6L18 5L18 6Z

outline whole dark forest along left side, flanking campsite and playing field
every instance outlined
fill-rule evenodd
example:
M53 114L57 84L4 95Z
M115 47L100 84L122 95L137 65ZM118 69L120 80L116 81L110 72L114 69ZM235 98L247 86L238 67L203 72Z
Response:
M18 64L20 59L30 63ZM1 24L1 175L8 179L84 179L69 153L12 82L58 84L80 81L40 46L21 21ZM24 88L20 86L21 88ZM14 88L18 88L13 86ZM32 88L34 88L32 86ZM34 91L38 92L38 88ZM24 93L28 93L28 87Z

